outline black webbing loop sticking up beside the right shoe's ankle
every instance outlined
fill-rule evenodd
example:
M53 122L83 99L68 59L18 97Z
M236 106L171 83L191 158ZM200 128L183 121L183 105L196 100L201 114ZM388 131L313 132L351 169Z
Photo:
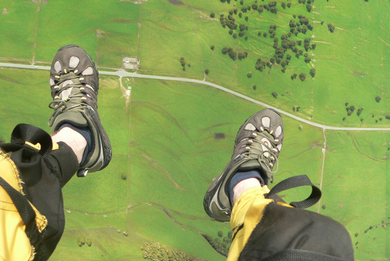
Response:
M272 189L269 191L265 198L268 198L270 195L279 193L281 191L300 186L311 186L311 194L308 198L302 201L291 202L291 206L298 208L308 208L317 203L318 200L320 200L321 190L313 183L311 183L307 175L292 176L280 181L274 187L272 187Z

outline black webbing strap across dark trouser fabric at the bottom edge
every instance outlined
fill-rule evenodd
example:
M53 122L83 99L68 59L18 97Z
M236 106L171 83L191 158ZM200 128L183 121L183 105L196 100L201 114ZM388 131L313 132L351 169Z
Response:
M285 249L276 252L261 261L346 261L345 259L315 253L306 250Z

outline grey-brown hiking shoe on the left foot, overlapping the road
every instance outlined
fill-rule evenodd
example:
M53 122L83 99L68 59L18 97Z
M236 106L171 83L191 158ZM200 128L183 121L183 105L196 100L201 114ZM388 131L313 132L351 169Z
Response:
M112 157L111 143L98 114L99 73L91 57L76 45L58 49L50 69L50 88L54 109L49 119L51 132L65 124L91 132L91 150L80 164L77 176L103 170Z

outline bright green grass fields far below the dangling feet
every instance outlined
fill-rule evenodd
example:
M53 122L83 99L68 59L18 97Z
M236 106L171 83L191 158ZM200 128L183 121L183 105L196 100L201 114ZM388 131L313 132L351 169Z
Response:
M253 2L245 0L244 6ZM48 65L60 46L75 43L101 68L120 68L125 55L140 59L140 74L202 80L204 69L209 69L206 81L316 123L388 127L389 1L317 0L310 13L297 0L291 0L291 8L286 9L277 2L277 14L251 9L242 18L234 15L236 23L249 26L245 40L234 39L228 27L219 23L220 14L226 17L230 9L241 8L233 0L230 4L219 0L182 0L182 4L3 0L0 61ZM216 13L214 19L211 11ZM268 32L270 24L277 25L275 37L280 43L294 13L307 16L314 26L313 31L290 38L315 41L315 50L308 51L312 61L306 64L303 56L297 59L288 50L292 58L285 73L277 64L257 71L256 60L274 54L269 33L259 37L258 31ZM334 33L327 28L329 22L336 26ZM223 47L249 54L233 61L222 54ZM185 71L180 57L185 58ZM309 75L313 66L314 79ZM250 71L252 78L247 77ZM290 76L300 72L306 73L306 80L291 81ZM48 75L47 71L0 68L0 136L6 141L20 122L50 132ZM118 78L100 78L99 113L110 135L113 159L101 173L75 177L64 187L66 231L51 260L143 260L140 247L145 241L205 260L225 260L200 233L216 237L220 230L228 233L230 226L212 221L204 213L202 200L212 178L230 160L238 128L262 108L213 87L146 79L129 79L132 91L126 104ZM278 93L277 98L271 96L272 91ZM382 97L379 103L375 101L378 95ZM345 102L363 107L363 113L347 116ZM293 112L293 106L300 106L300 111ZM285 140L275 183L307 174L323 190L321 201L310 210L346 226L356 260L389 259L389 135L327 130L324 136L322 129L289 117L283 121ZM225 138L216 139L215 133L224 133ZM122 174L128 175L127 180ZM290 202L309 192L301 188L281 196ZM130 234L125 237L117 229ZM93 245L80 248L77 238L81 236L91 237Z

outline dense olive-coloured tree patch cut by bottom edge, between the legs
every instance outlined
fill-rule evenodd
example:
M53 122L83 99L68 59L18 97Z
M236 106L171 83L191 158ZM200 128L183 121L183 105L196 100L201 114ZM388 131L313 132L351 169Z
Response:
M145 242L143 243L141 250L143 258L151 261L204 261L203 259L189 255L185 252L160 245L158 242L151 244Z

